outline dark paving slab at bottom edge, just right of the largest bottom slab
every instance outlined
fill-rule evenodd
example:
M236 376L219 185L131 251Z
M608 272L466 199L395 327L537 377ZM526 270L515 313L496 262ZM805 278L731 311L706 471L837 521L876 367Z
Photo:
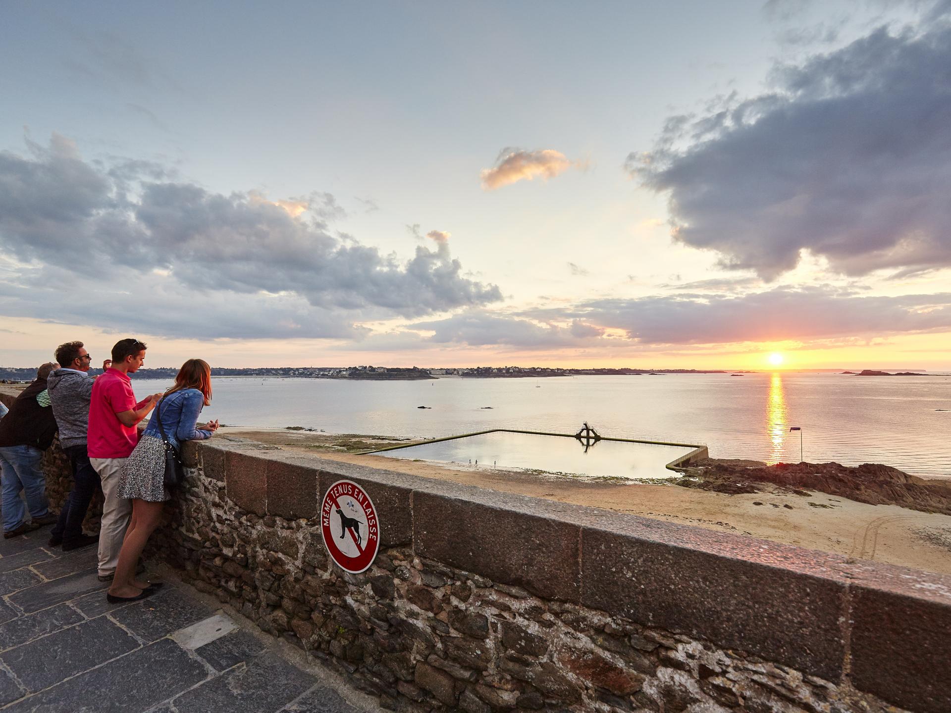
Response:
M268 713L281 710L315 678L272 653L192 688L172 703L182 713Z

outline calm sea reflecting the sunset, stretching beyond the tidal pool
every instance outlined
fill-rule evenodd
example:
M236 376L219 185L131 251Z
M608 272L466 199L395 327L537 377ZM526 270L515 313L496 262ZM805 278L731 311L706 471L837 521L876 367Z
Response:
M133 376L140 396L169 383ZM492 428L573 434L587 420L602 435L702 443L713 457L770 463L798 462L802 434L808 461L884 463L951 477L951 411L941 409L951 410L951 376L220 377L202 417L414 438Z

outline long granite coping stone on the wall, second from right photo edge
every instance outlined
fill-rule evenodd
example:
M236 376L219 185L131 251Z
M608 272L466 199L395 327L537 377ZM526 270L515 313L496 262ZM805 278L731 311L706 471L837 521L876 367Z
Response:
M582 532L581 604L842 678L843 581L605 530Z

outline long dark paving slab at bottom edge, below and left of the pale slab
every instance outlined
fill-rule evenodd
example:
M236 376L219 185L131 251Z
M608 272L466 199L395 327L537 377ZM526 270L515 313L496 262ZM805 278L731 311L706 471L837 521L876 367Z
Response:
M13 703L4 713L138 713L206 676L204 665L163 639Z

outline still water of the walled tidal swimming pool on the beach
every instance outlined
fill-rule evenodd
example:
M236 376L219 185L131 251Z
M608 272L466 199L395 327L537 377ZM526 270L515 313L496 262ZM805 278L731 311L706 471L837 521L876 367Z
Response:
M696 446L602 438L587 447L570 435L511 431L465 435L378 451L389 458L433 461L452 467L554 473L579 478L670 478L667 469Z

